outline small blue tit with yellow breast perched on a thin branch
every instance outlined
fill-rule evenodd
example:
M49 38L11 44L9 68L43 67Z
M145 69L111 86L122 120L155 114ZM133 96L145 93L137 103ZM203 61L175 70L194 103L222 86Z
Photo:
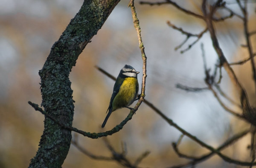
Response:
M116 83L113 88L113 93L108 106L108 115L106 116L104 122L102 123L102 128L106 125L109 116L113 111L130 106L137 98L139 91L139 83L137 79L137 72L132 66L125 65L122 70L120 70L117 76ZM106 112L106 113L107 113Z

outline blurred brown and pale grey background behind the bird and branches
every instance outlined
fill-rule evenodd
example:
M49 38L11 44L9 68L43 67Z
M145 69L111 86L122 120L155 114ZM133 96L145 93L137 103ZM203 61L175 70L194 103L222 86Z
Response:
M207 59L207 67L214 70L217 55L212 47L209 33L190 50L181 54L196 38L190 38L180 50L186 36L170 28L169 20L177 27L194 34L204 30L199 19L187 16L171 5L148 6L135 2L140 20L141 34L148 57L146 99L189 133L213 147L218 147L228 137L250 128L224 111L212 92L186 92L177 89L177 83L189 87L207 87L204 83L204 67L201 42ZM153 1L152 1L153 2ZM176 0L176 2L201 14L201 0ZM79 11L83 0L0 0L0 168L26 168L35 156L44 130L44 115L29 104L41 104L40 77L38 70L44 65L50 49L61 36L70 20ZM235 0L227 0L230 8L241 14ZM255 1L248 4L249 30L255 31ZM228 14L218 11L219 16ZM220 46L229 62L247 58L243 35L243 23L237 17L215 24ZM256 36L252 37L256 47ZM122 0L114 8L108 20L93 37L79 56L70 73L75 115L73 126L86 132L102 132L112 129L129 113L128 109L114 112L104 129L101 124L113 91L114 81L100 73L95 65L113 76L118 76L125 64L142 72L142 59L137 33L128 8L128 0ZM250 62L234 66L242 85L246 88L251 105L255 104L255 90ZM227 73L222 71L222 89L239 102ZM138 80L141 88L142 73ZM139 91L140 93L140 91ZM227 101L224 101L228 104ZM134 106L133 104L132 106ZM228 104L231 108L236 106ZM239 111L239 109L236 109ZM121 151L121 142L127 144L128 159L135 161L144 151L151 151L140 164L141 167L168 167L188 160L177 157L172 149L181 133L166 123L159 115L142 104L124 128L108 137ZM96 155L110 156L102 139L92 140L79 135L79 143ZM224 150L228 156L250 161L250 135L243 137ZM180 145L183 153L201 156L206 154L192 140L184 137ZM120 168L116 162L93 160L78 151L73 145L63 168ZM200 163L198 168L237 168L218 156Z

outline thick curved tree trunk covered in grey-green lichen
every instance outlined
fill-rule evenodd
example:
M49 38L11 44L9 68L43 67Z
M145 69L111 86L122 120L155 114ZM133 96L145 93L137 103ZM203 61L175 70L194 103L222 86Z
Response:
M120 0L85 0L61 37L52 46L41 77L42 105L45 112L67 126L72 126L74 104L69 73L90 39L97 34ZM36 156L29 168L61 168L67 157L71 132L61 129L49 118L44 120Z

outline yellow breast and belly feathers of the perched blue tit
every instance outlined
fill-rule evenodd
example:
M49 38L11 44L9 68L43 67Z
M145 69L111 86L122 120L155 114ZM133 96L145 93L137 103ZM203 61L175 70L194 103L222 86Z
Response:
M130 106L137 97L137 87L139 86L137 78L128 77L123 81L119 92L113 100L113 110Z

